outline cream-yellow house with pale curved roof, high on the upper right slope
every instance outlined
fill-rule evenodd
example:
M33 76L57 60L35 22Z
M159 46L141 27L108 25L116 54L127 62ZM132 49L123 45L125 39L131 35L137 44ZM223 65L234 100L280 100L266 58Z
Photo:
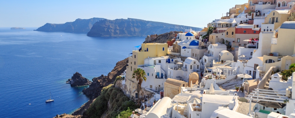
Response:
M278 29L283 22L288 21L288 17L290 16L290 10L274 10L268 14L265 18L264 23L261 25L261 31L273 31Z

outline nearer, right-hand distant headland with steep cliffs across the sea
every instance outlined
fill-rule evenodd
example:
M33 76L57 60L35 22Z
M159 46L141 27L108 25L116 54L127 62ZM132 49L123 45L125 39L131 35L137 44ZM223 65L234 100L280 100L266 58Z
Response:
M96 22L87 36L91 37L129 37L143 36L151 34L163 34L170 31L184 31L187 29L200 31L201 28L189 27L176 24L168 24L163 22L153 22L141 19L104 19Z

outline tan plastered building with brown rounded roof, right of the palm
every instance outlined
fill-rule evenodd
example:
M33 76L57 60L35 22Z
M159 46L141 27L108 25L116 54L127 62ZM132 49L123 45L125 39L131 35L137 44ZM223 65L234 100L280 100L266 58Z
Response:
M181 93L181 87L186 87L185 81L168 78L164 83L164 97L173 98L175 95Z

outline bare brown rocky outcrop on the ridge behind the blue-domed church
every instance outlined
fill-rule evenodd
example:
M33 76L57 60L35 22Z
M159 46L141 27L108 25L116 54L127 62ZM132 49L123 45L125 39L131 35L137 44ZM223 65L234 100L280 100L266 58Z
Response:
M164 34L158 35L155 39L152 39L152 37L148 35L143 43L167 43L168 40L172 40L175 37L175 34L178 33L182 33L182 31L166 32Z

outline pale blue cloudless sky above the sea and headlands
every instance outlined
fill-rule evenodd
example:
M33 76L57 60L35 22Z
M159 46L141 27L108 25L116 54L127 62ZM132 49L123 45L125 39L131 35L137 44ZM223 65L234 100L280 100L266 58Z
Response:
M40 27L93 17L206 27L248 0L1 0L0 27Z

